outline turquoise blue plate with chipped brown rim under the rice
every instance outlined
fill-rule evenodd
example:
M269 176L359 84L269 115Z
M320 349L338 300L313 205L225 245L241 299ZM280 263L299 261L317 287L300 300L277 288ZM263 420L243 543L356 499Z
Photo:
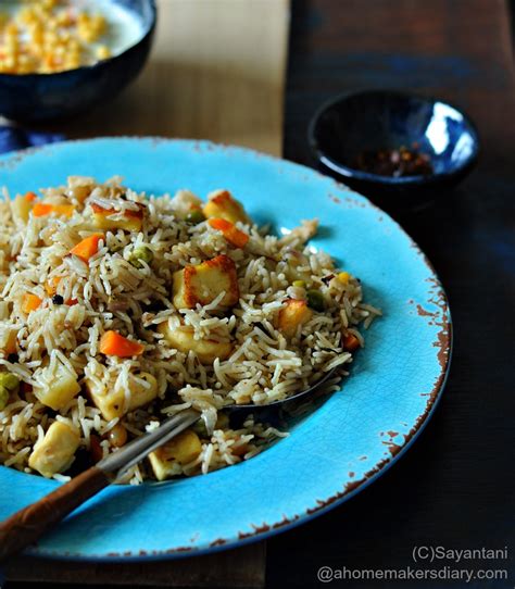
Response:
M341 503L413 442L441 394L450 362L445 296L427 259L382 211L329 178L241 148L162 139L54 143L0 159L12 195L67 175L115 174L136 190L226 187L259 223L318 217L312 241L359 276L384 317L366 335L342 390L254 459L206 476L114 486L28 552L71 559L197 554L264 538ZM0 518L58 486L0 467Z

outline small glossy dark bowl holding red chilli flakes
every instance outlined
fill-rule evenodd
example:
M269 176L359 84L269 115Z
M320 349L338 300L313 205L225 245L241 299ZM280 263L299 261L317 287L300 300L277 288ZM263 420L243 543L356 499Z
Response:
M311 121L309 141L325 172L355 190L390 203L438 196L460 181L476 163L479 140L470 120L438 99L389 90L339 96ZM382 176L356 170L364 152L412 148L430 156L432 173Z

